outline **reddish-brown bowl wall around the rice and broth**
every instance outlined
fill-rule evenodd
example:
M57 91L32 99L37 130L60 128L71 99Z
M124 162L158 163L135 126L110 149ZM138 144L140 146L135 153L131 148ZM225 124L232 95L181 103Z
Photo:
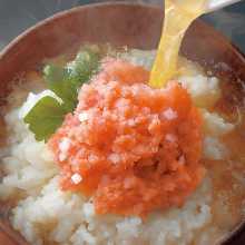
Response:
M85 6L40 22L0 53L0 105L4 104L13 78L33 69L43 59L61 55L70 47L77 49L82 42L154 49L160 37L161 22L160 9L127 3ZM185 37L182 52L222 79L228 79L234 84L232 87L238 88L236 96L244 98L239 89L242 85L236 84L237 80L245 80L244 56L213 28L195 21ZM227 99L232 97L231 92L225 96ZM1 206L4 209L3 204ZM0 213L0 244L27 244Z

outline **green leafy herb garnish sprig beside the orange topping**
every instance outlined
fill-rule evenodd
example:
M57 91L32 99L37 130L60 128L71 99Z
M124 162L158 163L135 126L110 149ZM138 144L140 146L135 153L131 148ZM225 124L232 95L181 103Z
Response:
M47 86L62 104L46 96L24 116L24 122L29 125L38 141L47 141L62 124L66 114L74 111L78 104L78 90L98 71L99 59L98 48L89 46L80 50L75 60L65 67L53 63L45 67L43 77Z

